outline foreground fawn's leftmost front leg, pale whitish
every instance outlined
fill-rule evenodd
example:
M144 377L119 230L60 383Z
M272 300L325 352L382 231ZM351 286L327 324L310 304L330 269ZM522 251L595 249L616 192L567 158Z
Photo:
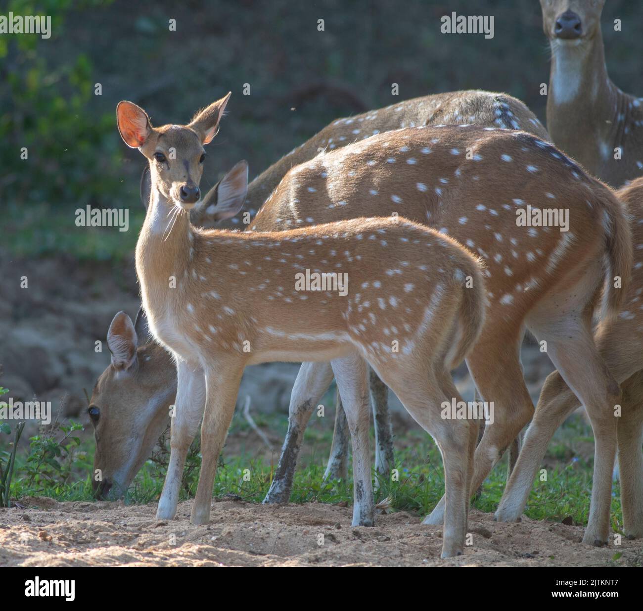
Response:
M176 402L170 424L170 463L156 509L156 517L159 520L172 520L176 515L185 457L199 430L205 403L203 369L188 365L186 361L177 360L176 372Z

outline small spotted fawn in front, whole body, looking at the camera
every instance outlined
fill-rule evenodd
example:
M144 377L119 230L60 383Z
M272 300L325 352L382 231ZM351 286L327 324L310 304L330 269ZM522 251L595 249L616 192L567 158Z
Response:
M442 556L462 554L477 423L442 417L440 406L458 398L449 370L465 358L482 326L480 262L448 236L397 217L266 233L192 226L185 212L199 199L203 146L217 133L229 98L188 125L158 128L135 104L117 107L123 141L147 158L152 178L136 246L143 307L151 333L177 366L158 518L176 514L186 453L203 416L203 461L190 520L208 522L244 367L317 359L331 361L349 421L353 524L372 525L368 362L442 452L448 507ZM242 205L242 198L233 199L217 203L229 211L224 214ZM379 266L385 259L404 273L386 274ZM376 309L379 302L388 307Z

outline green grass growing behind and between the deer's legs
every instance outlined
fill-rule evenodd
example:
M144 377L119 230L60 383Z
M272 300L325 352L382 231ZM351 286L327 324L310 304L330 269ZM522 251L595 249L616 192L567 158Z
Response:
M332 410L329 415L332 417ZM287 423L282 415L256 414L254 417L258 426L275 431L276 437L285 435ZM229 440L239 433L248 431L249 424L246 420L242 415L235 414ZM568 457L570 444L574 446L575 443L584 443L586 432L584 423L570 421L557 432L551 447L557 448L557 444L563 443L562 439L565 439L564 445L567 448L565 455ZM323 481L331 439L331 423L327 418L313 416L303 443L303 448L308 450L308 453L302 457L295 471L290 498L292 503L345 502L349 506L352 505L350 461L349 476L346 480ZM374 473L374 480L377 481L375 500L380 502L389 498L392 511L409 511L424 516L430 513L444 493L444 471L440 453L430 437L421 430L407 431L397 438L396 446L397 477L389 479ZM252 450L256 450L255 446ZM12 483L12 497L43 495L60 501L93 500L89 474L86 477L82 476L82 473L87 473L87 465L90 465L93 459L93 443L83 442L77 451L82 458L82 465L79 463L78 467L84 466L85 469L80 471L77 469L76 481L68 478L66 483L53 480L42 482L38 489L26 485L24 459L22 462L17 461L17 477ZM556 462L558 454L558 451L555 451L555 455L548 453L546 462L554 462L555 466L545 471L547 479L544 481L541 481L542 476L539 472L525 508L525 515L536 520L554 522L561 522L567 518L575 525L585 525L589 512L593 461L574 456L571 459L566 458L565 462ZM506 457L503 458L487 477L482 486L482 495L476 498L472 504L473 507L487 513L496 510L505 488L506 461ZM128 504L156 502L163 489L166 465L167 452L165 456L156 455L154 459L147 461L134 479L125 502ZM194 497L200 465L197 438L186 461L181 500ZM271 465L268 461L253 457L246 451L237 451L237 455L230 456L224 449L217 468L213 495L218 498L233 495L248 502L260 503L270 487L275 467L276 464ZM622 532L618 482L614 483L611 509L612 528L615 532Z

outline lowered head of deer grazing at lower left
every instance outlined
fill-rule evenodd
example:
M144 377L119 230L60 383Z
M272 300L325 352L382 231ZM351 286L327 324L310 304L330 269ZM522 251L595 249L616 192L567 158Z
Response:
M145 342L143 334L136 333L124 312L114 316L107 333L112 361L98 378L88 409L96 440L92 483L98 498L125 494L165 430L176 395L172 359L156 342L139 345Z

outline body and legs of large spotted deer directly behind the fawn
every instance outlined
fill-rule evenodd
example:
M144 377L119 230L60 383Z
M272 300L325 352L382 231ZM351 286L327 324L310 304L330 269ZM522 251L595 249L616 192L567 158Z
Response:
M592 314L604 282L610 313L625 295L615 288L619 278L627 283L632 256L620 201L531 134L447 125L378 134L293 168L251 228L328 223L351 214L350 208L354 216L397 213L430 224L485 260L489 309L467 366L482 398L494 402L495 422L476 448L474 489L534 412L520 363L529 329L547 342L548 356L592 420L592 514L584 540L605 542L616 446L613 405L620 391L593 343ZM518 223L519 214L535 219L543 213L544 219L552 209L568 214L566 228L551 221ZM404 268L384 267L387 275L404 275ZM375 307L386 308L385 302ZM268 497L287 500L303 428L331 377L327 363L300 370L283 462ZM443 519L444 499L426 522Z

